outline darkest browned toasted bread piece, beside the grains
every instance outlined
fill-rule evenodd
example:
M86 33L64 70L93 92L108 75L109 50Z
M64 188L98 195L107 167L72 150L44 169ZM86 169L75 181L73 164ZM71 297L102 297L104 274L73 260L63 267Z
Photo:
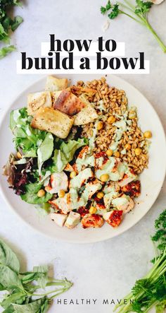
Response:
M57 95L57 93L56 93ZM56 97L55 95L55 97ZM54 97L54 98L55 98ZM69 90L62 90L53 102L53 108L70 116L77 114L85 107L85 103Z

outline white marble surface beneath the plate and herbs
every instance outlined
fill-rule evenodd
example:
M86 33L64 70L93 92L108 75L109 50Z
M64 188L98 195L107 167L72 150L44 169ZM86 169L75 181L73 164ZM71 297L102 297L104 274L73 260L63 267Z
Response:
M101 25L104 18L99 13L103 0L47 0L25 1L23 9L17 11L24 18L23 25L12 36L12 42L18 51L39 56L40 42L47 41L49 33L56 33L61 39L87 38L96 39L103 35ZM151 10L151 22L166 42L165 33L166 2ZM125 41L127 56L144 51L146 59L151 61L150 75L122 76L138 88L160 115L166 126L165 78L166 56L160 50L151 34L146 29L120 16L110 25L104 34L107 39ZM13 53L0 61L0 107L1 117L12 100L39 76L16 74L15 61L19 53ZM149 118L149 117L147 117ZM6 140L6 138L4 138ZM160 140L160 138L158 139ZM159 151L162 153L162 151ZM1 178L0 178L1 179ZM151 211L134 228L113 240L98 244L65 244L51 240L25 225L0 199L1 227L0 236L11 244L18 253L22 268L32 268L37 264L53 264L55 275L66 276L75 286L61 299L91 299L91 305L56 305L49 312L56 313L110 313L113 305L102 305L103 299L122 297L135 280L143 276L153 256L150 234L153 222L165 208L166 186L162 188L158 200ZM92 299L97 299L93 305Z

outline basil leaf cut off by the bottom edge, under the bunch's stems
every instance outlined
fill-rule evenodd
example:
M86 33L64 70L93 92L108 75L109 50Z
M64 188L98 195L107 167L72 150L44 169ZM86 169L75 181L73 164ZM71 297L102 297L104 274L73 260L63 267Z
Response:
M49 308L49 300L42 297L28 305L13 305L13 307L17 313L45 313Z

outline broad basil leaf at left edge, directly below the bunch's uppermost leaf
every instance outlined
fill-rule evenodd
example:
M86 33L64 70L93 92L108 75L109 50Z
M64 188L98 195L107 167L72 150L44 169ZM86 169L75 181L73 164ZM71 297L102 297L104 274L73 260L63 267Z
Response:
M0 281L1 285L6 288L6 290L13 288L14 286L23 289L23 285L15 271L12 271L8 266L0 264Z

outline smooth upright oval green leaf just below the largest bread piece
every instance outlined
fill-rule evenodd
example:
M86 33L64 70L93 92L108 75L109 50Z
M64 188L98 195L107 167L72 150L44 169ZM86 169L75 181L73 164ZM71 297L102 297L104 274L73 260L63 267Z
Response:
M44 141L37 149L39 175L41 175L41 167L43 163L49 158L51 158L52 153L53 153L53 135L47 133L46 137L44 138Z

